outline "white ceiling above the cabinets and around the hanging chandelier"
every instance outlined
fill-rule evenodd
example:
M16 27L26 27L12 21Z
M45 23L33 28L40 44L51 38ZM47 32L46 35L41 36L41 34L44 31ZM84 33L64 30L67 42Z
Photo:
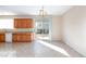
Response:
M72 5L45 5L44 10L48 15L62 15ZM40 5L0 5L0 15L38 15Z

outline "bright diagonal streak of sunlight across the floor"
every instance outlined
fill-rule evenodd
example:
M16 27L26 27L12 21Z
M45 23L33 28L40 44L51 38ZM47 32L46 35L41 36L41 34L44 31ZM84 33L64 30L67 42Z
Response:
M46 46L46 47L48 47L48 48L51 48L51 49L53 49L53 50L56 50L56 51L58 51L58 52L60 52L60 53L62 53L62 54L64 54L66 56L71 56L64 49L62 49L60 47L53 46L53 44L51 44L49 42L45 42L45 41L41 41L41 40L38 40L38 42Z

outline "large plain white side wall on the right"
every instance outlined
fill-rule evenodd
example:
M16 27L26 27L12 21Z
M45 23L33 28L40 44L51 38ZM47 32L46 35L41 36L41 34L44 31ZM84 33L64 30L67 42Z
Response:
M74 7L63 15L62 39L86 56L86 7Z

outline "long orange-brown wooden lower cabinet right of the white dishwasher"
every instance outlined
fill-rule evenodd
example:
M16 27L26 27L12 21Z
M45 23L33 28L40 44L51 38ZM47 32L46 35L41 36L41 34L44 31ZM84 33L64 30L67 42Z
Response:
M14 33L12 35L13 42L30 42L33 40L33 33Z

